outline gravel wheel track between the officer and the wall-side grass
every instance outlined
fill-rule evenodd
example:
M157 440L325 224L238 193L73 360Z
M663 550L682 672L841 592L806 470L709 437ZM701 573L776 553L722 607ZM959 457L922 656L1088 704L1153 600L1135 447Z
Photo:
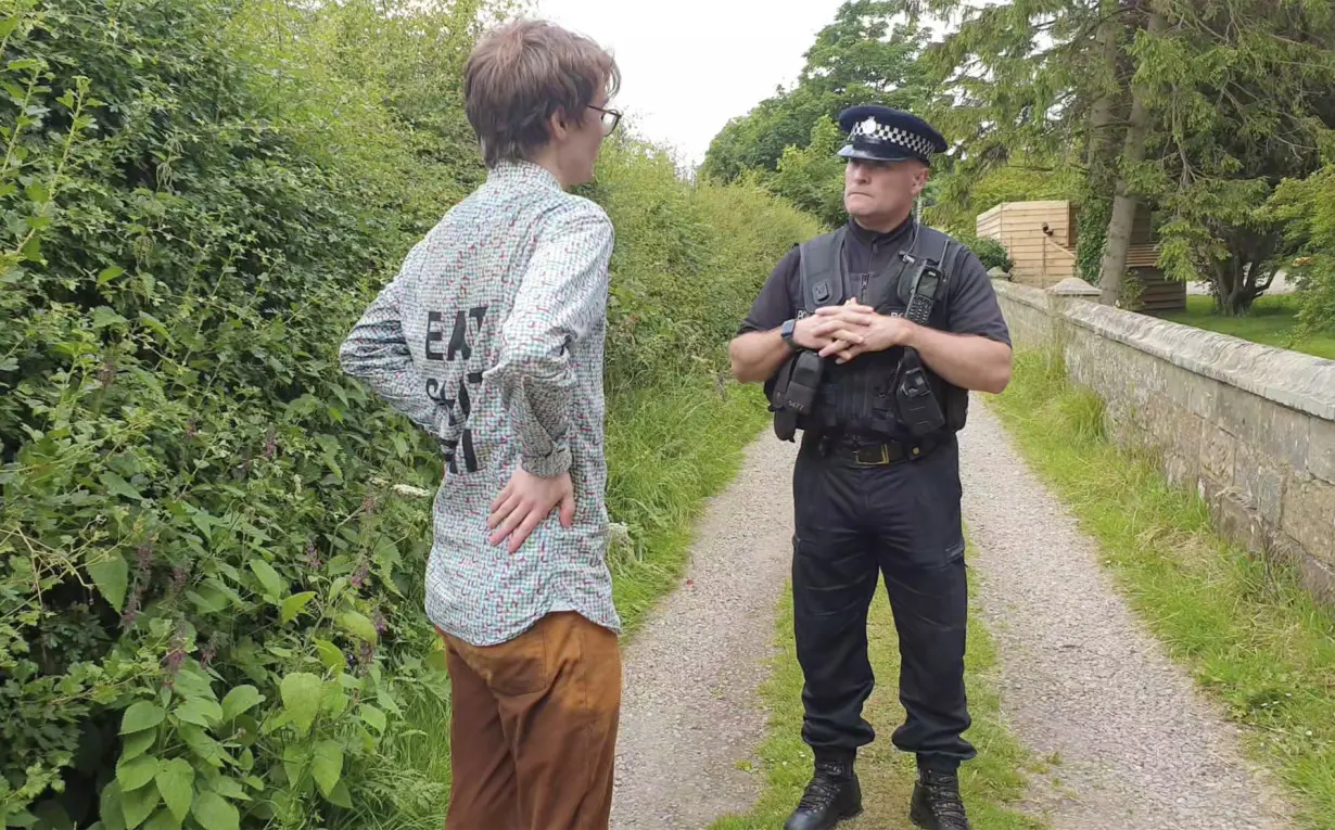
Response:
M1035 793L1053 830L1287 827L1238 750L1103 572L1095 543L975 402L961 435L976 590L1001 658L1003 715L1060 785Z

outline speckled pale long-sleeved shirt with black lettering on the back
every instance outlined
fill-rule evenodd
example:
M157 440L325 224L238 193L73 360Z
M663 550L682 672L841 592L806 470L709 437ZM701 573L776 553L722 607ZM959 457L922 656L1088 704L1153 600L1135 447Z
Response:
M503 163L407 255L339 352L343 371L439 440L426 614L475 646L554 611L621 631L606 564L602 363L613 228L545 168ZM513 555L487 536L522 466L569 470L575 520Z

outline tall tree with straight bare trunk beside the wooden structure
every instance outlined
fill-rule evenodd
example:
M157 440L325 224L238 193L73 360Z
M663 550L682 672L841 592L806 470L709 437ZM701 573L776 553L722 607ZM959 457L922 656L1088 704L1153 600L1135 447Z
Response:
M1081 272L1096 279L1125 129L1127 8L1119 0L905 5L959 17L924 53L932 117L957 149L932 215L963 231L999 201L1080 204ZM965 215L967 214L967 215Z

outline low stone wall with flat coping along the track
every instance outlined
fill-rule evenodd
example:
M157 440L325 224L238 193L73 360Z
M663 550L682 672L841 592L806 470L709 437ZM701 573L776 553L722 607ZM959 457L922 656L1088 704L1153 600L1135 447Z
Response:
M1115 440L1156 448L1224 534L1335 602L1335 362L1100 306L1077 279L993 286L1016 347L1059 348Z

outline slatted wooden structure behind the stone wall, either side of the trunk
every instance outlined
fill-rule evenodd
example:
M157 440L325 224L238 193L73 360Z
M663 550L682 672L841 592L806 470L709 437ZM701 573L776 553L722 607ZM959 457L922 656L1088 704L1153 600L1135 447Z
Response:
M1076 211L1069 201L1005 201L979 214L979 236L996 239L1011 254L1011 279L1047 288L1076 275ZM1164 279L1149 211L1141 205L1132 220L1127 268L1143 290L1136 311L1177 311L1187 307L1187 286Z

